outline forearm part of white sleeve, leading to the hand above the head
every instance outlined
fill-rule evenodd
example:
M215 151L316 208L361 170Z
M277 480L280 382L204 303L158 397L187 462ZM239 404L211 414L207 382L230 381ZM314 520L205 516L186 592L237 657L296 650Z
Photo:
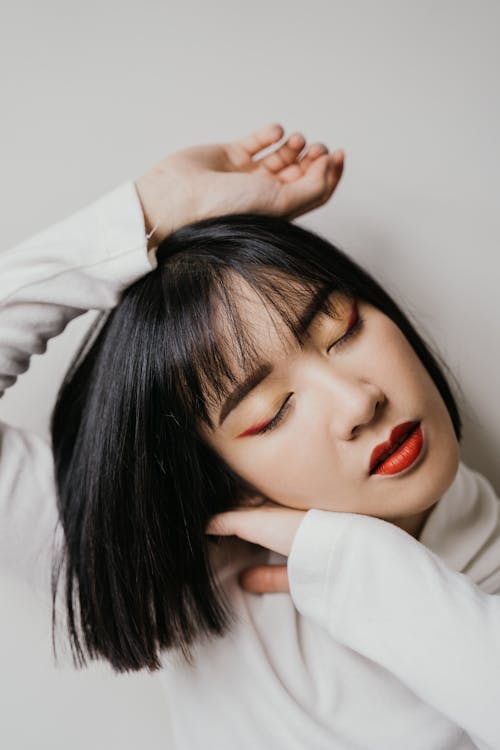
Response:
M114 307L151 269L132 181L0 252L0 394L70 320Z

